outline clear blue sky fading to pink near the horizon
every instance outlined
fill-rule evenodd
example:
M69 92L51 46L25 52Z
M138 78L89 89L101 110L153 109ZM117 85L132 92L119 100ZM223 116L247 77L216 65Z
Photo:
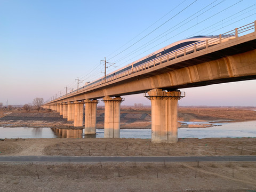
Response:
M0 102L47 101L196 35L256 20L252 0L0 0ZM253 32L253 31L251 31ZM249 32L250 33L250 32ZM256 80L180 89L180 106L256 106ZM150 101L124 96L122 105ZM100 101L99 105L103 105Z

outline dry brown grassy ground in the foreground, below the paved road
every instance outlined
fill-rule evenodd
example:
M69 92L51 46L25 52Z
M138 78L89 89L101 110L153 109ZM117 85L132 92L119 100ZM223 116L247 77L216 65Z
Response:
M246 163L248 168L235 163L234 169L227 163L200 164L198 168L195 163L0 163L1 191L238 192L256 188L256 163Z

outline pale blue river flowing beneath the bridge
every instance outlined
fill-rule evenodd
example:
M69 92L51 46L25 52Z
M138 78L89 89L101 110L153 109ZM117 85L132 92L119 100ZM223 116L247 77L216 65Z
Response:
M190 122L182 122L189 124ZM0 138L86 138L82 130L60 130L31 127L0 127ZM96 135L90 137L103 138L104 130L97 129ZM122 129L121 138L151 139L151 129ZM240 138L256 137L256 121L237 123L218 123L207 128L179 128L178 138Z

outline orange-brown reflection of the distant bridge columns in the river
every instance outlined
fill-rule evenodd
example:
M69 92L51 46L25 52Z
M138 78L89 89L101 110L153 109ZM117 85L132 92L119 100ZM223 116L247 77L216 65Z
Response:
M59 129L52 128L52 131L55 135L60 138L75 138L82 139L83 138L83 130L82 129Z

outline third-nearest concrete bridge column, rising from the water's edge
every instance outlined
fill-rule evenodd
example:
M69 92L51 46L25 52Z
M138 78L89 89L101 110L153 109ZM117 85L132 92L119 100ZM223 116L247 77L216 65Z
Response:
M98 100L84 100L85 116L84 116L84 134L96 134L96 117Z

